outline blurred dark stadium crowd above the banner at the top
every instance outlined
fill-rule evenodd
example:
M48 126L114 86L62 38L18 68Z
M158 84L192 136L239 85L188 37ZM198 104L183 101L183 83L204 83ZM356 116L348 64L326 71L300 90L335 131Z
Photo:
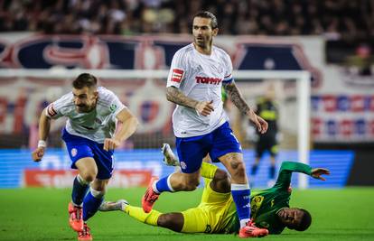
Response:
M0 32L190 32L201 9L217 15L221 34L374 36L373 0L3 0Z

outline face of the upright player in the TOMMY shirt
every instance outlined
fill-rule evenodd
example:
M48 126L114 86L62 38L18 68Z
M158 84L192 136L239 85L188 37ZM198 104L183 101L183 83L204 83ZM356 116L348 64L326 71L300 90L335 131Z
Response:
M216 36L218 28L211 29L210 18L195 17L192 24L193 42L201 48L211 44L213 36Z

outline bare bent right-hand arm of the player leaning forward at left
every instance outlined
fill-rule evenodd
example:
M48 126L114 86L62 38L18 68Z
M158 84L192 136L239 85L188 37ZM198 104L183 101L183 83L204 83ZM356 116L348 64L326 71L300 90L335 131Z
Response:
M127 108L121 110L117 116L117 120L122 123L119 130L113 138L107 138L104 140L104 150L114 150L116 149L123 141L125 141L131 134L134 134L139 125L139 122Z

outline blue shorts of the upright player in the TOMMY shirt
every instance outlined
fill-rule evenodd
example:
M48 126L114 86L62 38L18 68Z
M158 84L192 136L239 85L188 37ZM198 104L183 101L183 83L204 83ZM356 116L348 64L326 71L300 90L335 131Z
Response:
M202 159L208 153L212 162L220 162L219 158L227 153L241 153L241 146L228 122L209 134L176 137L175 144L184 173L198 171L201 168Z

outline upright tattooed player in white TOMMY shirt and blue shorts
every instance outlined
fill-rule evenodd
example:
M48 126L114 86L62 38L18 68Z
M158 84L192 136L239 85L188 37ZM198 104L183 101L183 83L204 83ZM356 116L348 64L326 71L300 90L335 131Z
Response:
M250 222L249 185L241 147L229 127L223 110L221 87L243 115L265 133L267 123L248 107L232 78L229 55L212 45L218 23L214 14L201 12L193 17L193 42L173 56L167 79L166 97L177 104L173 131L182 172L151 181L142 198L145 212L164 191L195 190L199 185L202 159L209 153L213 162L222 162L231 175L231 192L240 220L240 237L266 236L265 228Z

